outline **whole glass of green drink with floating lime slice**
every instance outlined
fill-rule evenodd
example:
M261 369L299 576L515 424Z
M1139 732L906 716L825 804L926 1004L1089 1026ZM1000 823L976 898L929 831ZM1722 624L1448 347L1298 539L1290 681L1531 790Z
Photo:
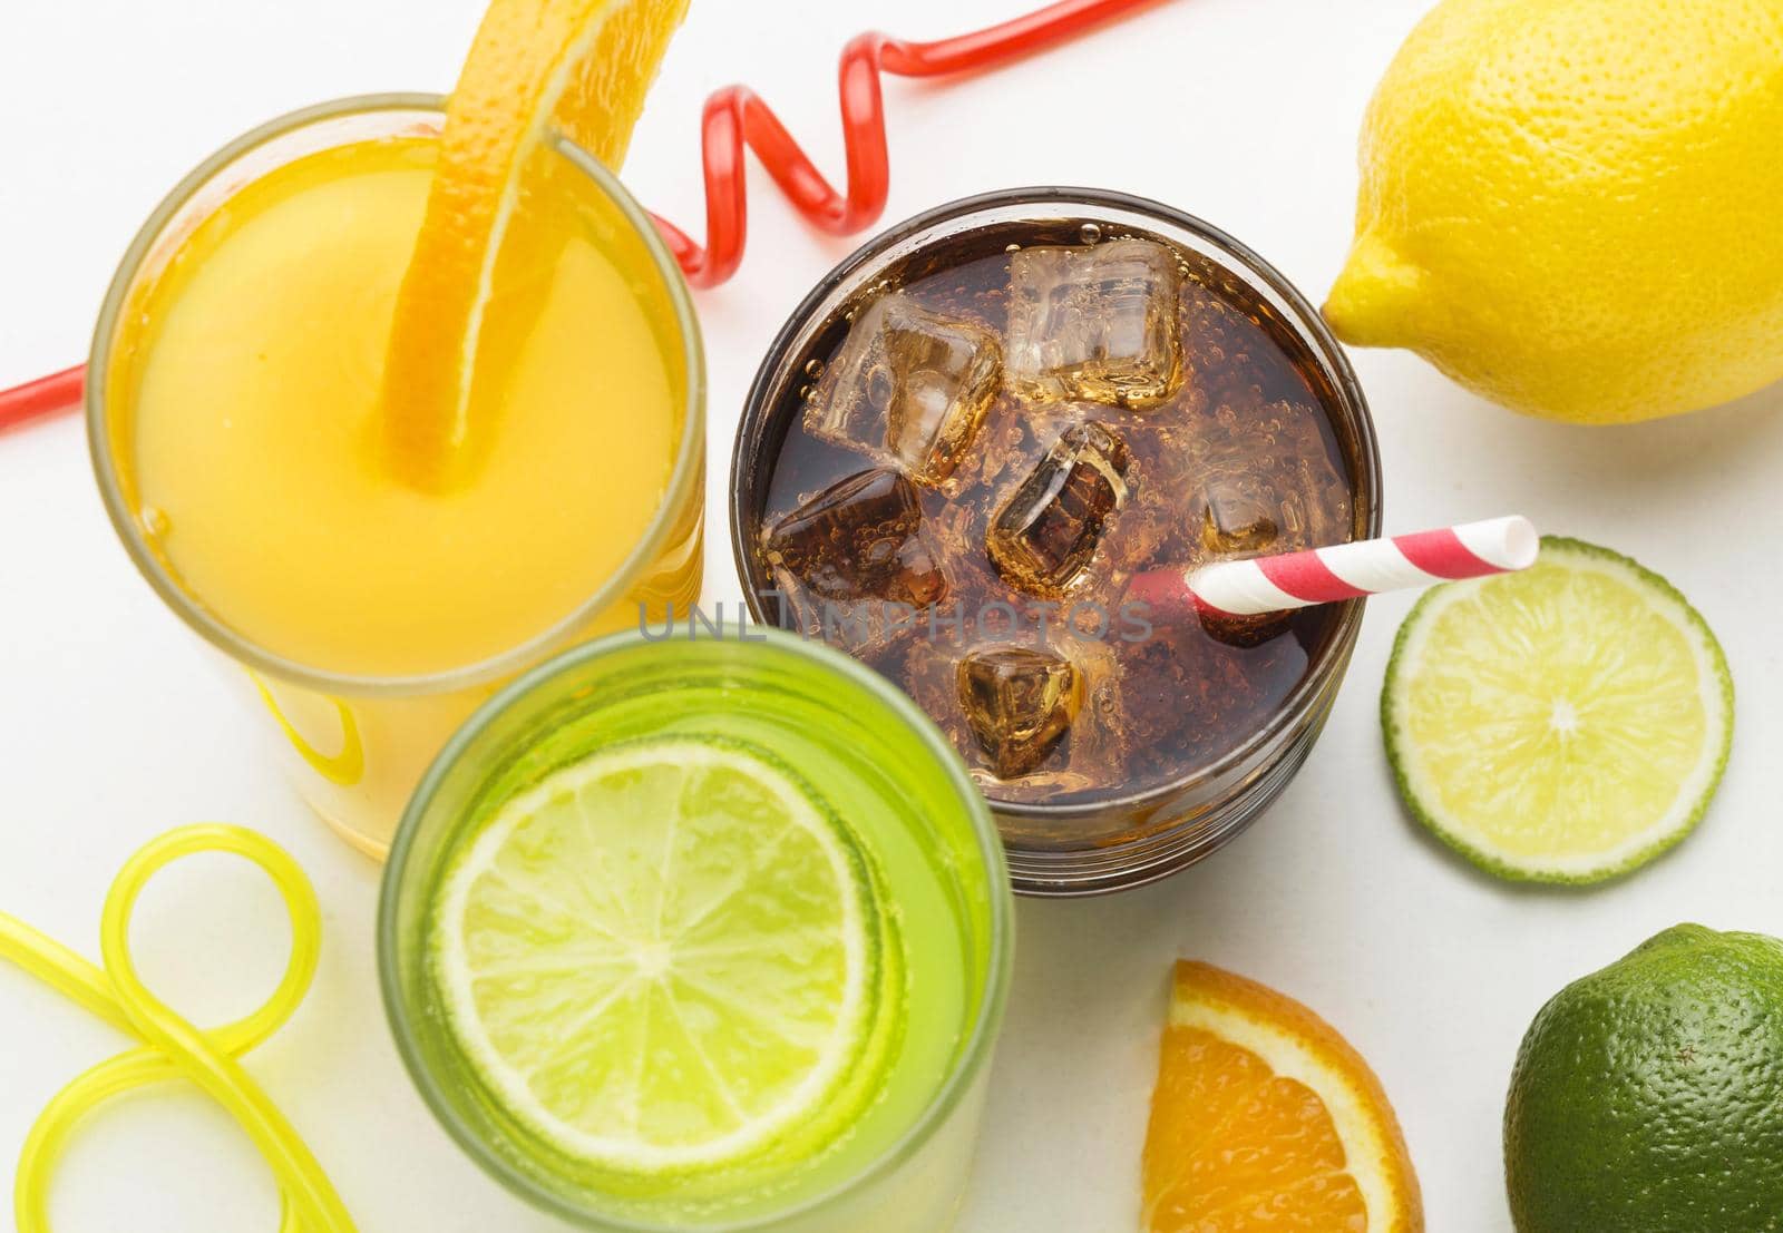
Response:
M1009 978L988 809L888 682L777 631L517 681L385 875L398 1046L587 1228L940 1233Z

